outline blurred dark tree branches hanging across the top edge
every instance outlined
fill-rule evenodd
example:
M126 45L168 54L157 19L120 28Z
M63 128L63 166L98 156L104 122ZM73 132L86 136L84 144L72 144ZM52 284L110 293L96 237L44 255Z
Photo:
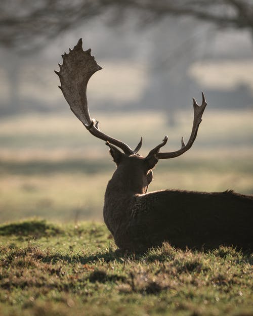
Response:
M2 0L0 43L31 50L93 17L115 25L136 13L144 25L168 15L192 16L218 27L248 29L253 36L252 0Z

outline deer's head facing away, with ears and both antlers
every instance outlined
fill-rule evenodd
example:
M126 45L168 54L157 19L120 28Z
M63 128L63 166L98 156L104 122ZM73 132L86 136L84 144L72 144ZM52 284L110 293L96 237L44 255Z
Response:
M201 117L206 107L206 101L202 92L202 104L199 106L193 98L194 119L189 141L184 143L181 139L181 148L174 152L160 152L168 140L165 136L163 141L153 148L146 157L137 154L142 146L142 137L133 150L128 145L114 139L99 129L99 122L96 119L91 119L88 102L87 102L87 84L90 77L102 68L97 64L95 58L91 56L91 50L82 50L82 40L79 39L77 45L73 50L69 49L68 54L62 55L63 64L60 65L60 71L56 74L60 77L61 89L70 109L76 117L85 125L87 130L95 137L106 142L110 148L110 154L117 165L117 174L119 179L125 179L123 185L128 187L129 191L136 193L146 193L148 185L152 181L152 169L159 161L159 159L175 158L187 150L189 150L194 143ZM123 152L121 152L121 149ZM130 172L131 169L131 172Z

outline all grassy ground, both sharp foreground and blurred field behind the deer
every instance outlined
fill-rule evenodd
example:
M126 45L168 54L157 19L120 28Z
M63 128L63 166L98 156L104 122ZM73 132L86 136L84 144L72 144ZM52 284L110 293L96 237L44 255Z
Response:
M176 126L162 113L94 116L131 147L143 135L146 155L167 133L166 148L178 149L192 113L180 113ZM205 113L196 144L160 161L149 191L252 194L252 121L251 111ZM252 254L169 244L145 254L116 249L99 223L114 169L108 148L71 113L0 121L0 315L252 316ZM17 221L33 216L50 221Z

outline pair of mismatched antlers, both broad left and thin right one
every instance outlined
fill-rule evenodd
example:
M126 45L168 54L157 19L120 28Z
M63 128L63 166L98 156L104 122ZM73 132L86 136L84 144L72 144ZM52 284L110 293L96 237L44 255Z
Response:
M91 119L88 102L87 102L87 84L91 76L102 68L95 61L94 56L91 56L91 49L87 51L82 50L82 40L78 40L73 50L69 49L69 53L62 55L63 64L60 65L60 71L55 73L60 77L61 89L66 101L68 102L70 109L76 115L76 117L85 125L85 127L97 138L106 142L106 145L115 145L122 149L125 154L136 154L142 146L142 138L137 147L132 150L125 143L116 140L107 134L103 133L98 127L98 121ZM194 143L199 124L201 123L202 114L206 107L206 101L202 92L202 104L199 106L196 100L193 98L194 119L190 139L185 145L184 139L181 140L181 149L174 152L160 153L159 150L167 142L167 136L164 137L161 144L152 149L146 158L155 156L156 159L174 158L182 155L188 149L191 148Z

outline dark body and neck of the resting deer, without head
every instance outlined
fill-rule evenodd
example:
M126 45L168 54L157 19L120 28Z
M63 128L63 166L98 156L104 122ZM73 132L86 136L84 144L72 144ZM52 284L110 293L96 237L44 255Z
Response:
M122 163L108 183L104 204L105 223L119 248L139 251L169 241L183 248L230 245L253 249L253 196L233 191L145 193L145 175L136 176L128 164ZM139 170L142 167L139 164ZM136 177L135 189L129 187L131 172Z

